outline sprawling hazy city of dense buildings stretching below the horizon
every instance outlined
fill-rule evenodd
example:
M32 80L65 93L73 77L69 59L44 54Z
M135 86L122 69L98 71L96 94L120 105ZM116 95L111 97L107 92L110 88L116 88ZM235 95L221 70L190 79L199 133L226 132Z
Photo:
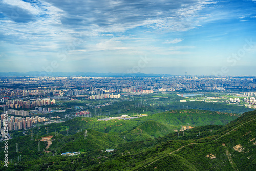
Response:
M3 86L16 87L26 85L28 89L0 89L0 99L31 98L38 96L87 96L91 99L111 98L105 94L121 94L137 92L148 94L168 91L253 91L256 89L256 79L247 76L154 76L154 77L5 77L0 78ZM40 87L39 87L40 86ZM24 86L25 87L25 86ZM256 93L245 93L256 96ZM94 96L90 96L94 95ZM111 95L109 95L111 96ZM113 98L116 98L113 97ZM46 105L37 102L8 102L11 108L33 108ZM41 103L40 103L41 102ZM50 104L48 102L48 104Z

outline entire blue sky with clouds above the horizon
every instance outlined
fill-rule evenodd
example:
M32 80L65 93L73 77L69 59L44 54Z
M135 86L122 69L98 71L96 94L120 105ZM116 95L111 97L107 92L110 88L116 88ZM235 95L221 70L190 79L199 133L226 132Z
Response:
M0 72L255 75L256 1L0 2Z

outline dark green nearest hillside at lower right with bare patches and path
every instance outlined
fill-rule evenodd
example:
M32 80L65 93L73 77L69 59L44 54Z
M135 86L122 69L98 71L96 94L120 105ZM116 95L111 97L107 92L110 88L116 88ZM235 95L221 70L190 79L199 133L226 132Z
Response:
M190 140L182 135L180 140L177 135L166 135L161 138L165 141L143 152L120 156L115 159L115 163L125 168L128 165L125 163L135 162L129 170L255 170L255 124L256 111L248 112L230 124L220 127L214 136L201 134L201 139L193 140L193 133L189 133L193 129L185 132L184 137L188 135ZM204 127L203 130L209 131L209 127ZM112 168L117 168L117 165L112 165ZM106 162L97 169L108 170L108 167Z

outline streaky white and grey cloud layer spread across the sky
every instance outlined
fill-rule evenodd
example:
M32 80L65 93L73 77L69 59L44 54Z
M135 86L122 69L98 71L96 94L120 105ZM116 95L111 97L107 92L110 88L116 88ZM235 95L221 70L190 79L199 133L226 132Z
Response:
M254 4L243 5L254 9L249 3ZM42 70L53 60L60 63L55 71L86 71L81 63L89 63L90 71L100 66L104 71L121 72L145 54L176 67L181 63L196 66L197 56L205 57L199 53L202 41L223 38L215 37L223 28L214 28L222 22L227 29L233 23L251 22L255 14L249 11L239 1L3 0L0 60L7 66L4 71L20 72ZM66 56L64 61L60 62L60 54ZM17 68L19 63L26 67ZM156 63L160 66L148 67L161 67L161 62ZM121 69L114 70L115 66Z

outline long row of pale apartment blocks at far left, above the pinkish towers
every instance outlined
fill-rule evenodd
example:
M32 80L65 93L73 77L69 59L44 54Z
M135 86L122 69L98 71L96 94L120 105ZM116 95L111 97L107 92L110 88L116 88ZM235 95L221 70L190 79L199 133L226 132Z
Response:
M43 106L43 105L50 105L50 104L55 104L55 99L36 99L36 100L27 100L27 101L22 101L22 100L8 100L5 104L9 108L34 108L36 106Z

